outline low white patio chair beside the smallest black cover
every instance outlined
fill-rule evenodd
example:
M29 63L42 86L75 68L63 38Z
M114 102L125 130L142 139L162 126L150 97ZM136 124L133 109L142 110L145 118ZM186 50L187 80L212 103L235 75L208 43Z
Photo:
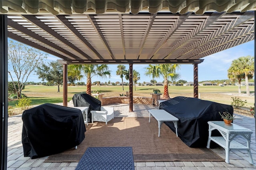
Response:
M100 111L91 111L92 113L92 123L93 121L98 122L106 122L106 125L108 124L108 121L111 119L114 119L114 107L100 107Z

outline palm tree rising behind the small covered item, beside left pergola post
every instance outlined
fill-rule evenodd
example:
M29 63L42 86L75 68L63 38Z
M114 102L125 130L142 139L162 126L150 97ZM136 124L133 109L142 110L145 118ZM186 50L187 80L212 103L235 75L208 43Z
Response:
M95 75L106 78L110 77L110 70L106 64L83 64L83 65L68 65L68 75L76 75L80 80L85 76L86 81L86 93L91 95L92 77Z

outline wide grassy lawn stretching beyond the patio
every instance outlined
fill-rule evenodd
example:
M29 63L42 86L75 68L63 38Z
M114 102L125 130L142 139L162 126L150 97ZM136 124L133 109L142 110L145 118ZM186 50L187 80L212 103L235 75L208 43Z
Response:
M62 103L63 102L63 87L60 87L60 93L57 93L57 86L43 86L43 85L27 85L22 91L25 95L32 100L32 105L40 105L43 103ZM164 92L163 86L136 86L136 91L133 90L133 96L151 97L153 89L160 89L161 93ZM100 90L104 94L103 97L119 96L126 94L129 91L129 86L92 86L92 91ZM199 86L199 98L203 100L215 101L230 105L232 102L231 97L238 97L246 100L246 107L254 105L254 95L247 97L246 87L242 86L242 95L238 95L237 86ZM193 86L169 86L170 97L186 96L194 97ZM68 101L72 100L75 93L85 93L86 86L68 86ZM254 86L250 86L250 92L254 94ZM15 107L18 101L10 101L9 105Z

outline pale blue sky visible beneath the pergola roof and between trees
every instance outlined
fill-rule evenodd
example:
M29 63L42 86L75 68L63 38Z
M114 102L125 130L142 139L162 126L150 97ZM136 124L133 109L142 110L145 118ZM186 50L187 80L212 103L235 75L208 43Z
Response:
M232 61L242 56L251 55L254 56L254 41L250 41L247 43L243 43L241 45L237 45L230 49L226 49L224 51L220 51L218 53L209 55L204 57L204 61L198 64L198 81L206 81L206 80L221 80L221 79L228 79L227 70L230 67ZM60 59L53 55L48 55L48 59L46 62L49 61L56 61ZM152 77L146 77L144 75L145 68L147 65L142 64L134 64L133 69L140 73L140 80L138 82L149 82ZM92 82L100 81L100 82L111 82L120 81L121 78L116 75L117 65L110 64L110 70L112 71L111 77L107 79L99 78L99 77L92 77ZM126 69L128 69L128 65L126 65ZM186 81L193 81L193 65L192 64L182 64L180 65L180 70L177 71L180 73L180 79ZM10 79L9 79L10 81ZM28 81L40 82L41 80L38 79L37 75L32 74L30 75ZM86 79L82 79L81 81L86 82ZM128 82L127 80L124 80ZM163 78L156 79L156 81L163 81Z

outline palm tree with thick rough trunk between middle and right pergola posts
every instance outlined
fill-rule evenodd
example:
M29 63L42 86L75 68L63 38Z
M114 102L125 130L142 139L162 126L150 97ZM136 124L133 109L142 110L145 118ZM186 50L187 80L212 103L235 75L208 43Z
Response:
M146 68L145 75L152 75L153 79L159 78L160 76L164 78L164 99L170 99L168 92L168 78L170 78L171 81L175 81L180 78L180 74L176 73L176 69L180 69L179 64L150 64Z

